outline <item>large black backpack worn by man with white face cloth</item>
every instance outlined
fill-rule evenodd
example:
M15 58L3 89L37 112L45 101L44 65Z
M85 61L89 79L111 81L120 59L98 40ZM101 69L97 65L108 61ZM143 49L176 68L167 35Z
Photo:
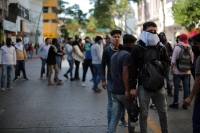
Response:
M145 50L143 67L139 73L141 83L146 91L156 92L164 87L165 70L161 62L158 62L164 47L159 44L147 47L137 44L137 46Z

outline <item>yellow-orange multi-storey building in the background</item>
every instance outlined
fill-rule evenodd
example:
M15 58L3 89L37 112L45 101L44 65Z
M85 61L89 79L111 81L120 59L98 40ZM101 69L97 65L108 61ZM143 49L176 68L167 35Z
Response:
M58 31L58 0L46 0L43 8L43 36L56 38Z

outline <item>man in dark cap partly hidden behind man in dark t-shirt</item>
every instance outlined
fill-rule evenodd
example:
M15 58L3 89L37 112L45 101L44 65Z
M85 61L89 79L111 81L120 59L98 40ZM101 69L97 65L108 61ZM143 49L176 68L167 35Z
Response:
M103 51L102 56L102 87L104 89L107 89L107 95L108 95L108 106L107 106L107 119L108 119L108 127L111 121L111 115L112 115L112 88L113 88L113 82L111 78L111 67L110 67L110 61L112 55L117 52L119 49L121 49L122 45L120 45L121 41L121 31L120 30L113 30L111 33L111 41L112 43L107 46ZM107 82L106 82L106 66L107 66ZM122 126L128 126L127 122L124 119L125 116L125 109L122 114L121 122ZM108 130L107 130L108 131Z

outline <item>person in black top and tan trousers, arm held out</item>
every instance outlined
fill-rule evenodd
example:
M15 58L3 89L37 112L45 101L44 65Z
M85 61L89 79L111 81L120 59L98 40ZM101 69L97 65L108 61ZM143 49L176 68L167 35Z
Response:
M56 56L57 56L57 55L63 56L64 53L57 50L56 44L57 44L57 39L54 38L54 39L52 40L52 45L51 45L50 48L49 48L48 57L47 57L47 65L48 65L48 67L49 67L48 85L54 85L54 84L51 82L51 75L52 75L52 73L53 73L53 69L55 70L57 85L62 85L62 82L59 81L59 78L58 78L58 66L57 66L57 64L56 64Z

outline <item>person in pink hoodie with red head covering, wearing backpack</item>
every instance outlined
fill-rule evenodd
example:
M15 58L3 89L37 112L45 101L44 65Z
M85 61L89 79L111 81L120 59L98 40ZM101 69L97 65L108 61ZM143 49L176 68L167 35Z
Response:
M190 57L191 57L191 62L193 62L194 55L192 52L192 49L190 48L190 45L188 44L188 37L186 34L181 34L179 36L179 42L178 45L184 47L184 48L189 48L190 50ZM174 75L174 101L169 107L178 109L179 103L178 103L178 95L179 95L179 84L182 80L183 82L183 89L184 89L184 99L186 99L189 95L189 90L190 90L190 75L191 71L180 71L177 68L176 60L179 58L179 54L181 52L181 47L176 46L173 51L172 55L172 61L171 61L171 72ZM183 101L184 102L184 101ZM182 105L183 109L187 109L186 105Z

